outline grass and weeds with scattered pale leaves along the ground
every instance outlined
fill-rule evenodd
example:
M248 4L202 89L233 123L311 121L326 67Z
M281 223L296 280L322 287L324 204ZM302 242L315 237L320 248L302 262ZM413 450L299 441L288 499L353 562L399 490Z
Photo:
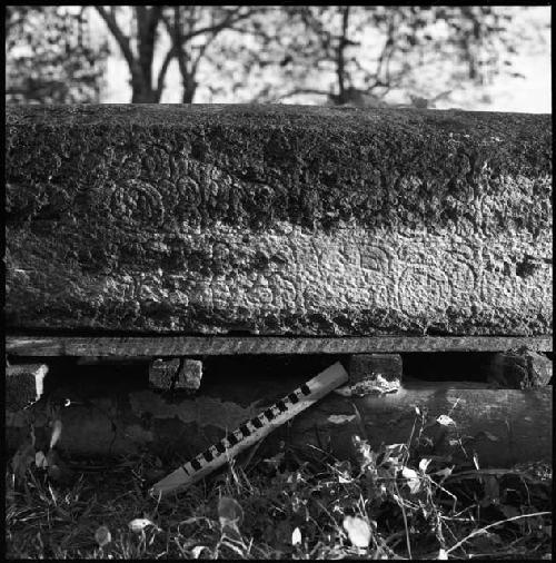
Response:
M354 439L356 463L248 454L163 498L148 486L176 465L147 454L72 460L63 484L8 467L7 557L550 559L550 466L469 471Z

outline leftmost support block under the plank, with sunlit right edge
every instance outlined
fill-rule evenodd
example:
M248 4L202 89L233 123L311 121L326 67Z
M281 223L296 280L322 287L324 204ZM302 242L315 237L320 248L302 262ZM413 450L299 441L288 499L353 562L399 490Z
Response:
M42 395L46 364L16 364L6 366L6 407L19 411Z

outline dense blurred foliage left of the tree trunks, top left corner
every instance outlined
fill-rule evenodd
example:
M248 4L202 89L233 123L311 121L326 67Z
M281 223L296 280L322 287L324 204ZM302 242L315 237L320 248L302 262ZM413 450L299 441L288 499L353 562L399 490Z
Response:
M6 8L6 101L99 100L106 45L95 46L82 11L62 6Z

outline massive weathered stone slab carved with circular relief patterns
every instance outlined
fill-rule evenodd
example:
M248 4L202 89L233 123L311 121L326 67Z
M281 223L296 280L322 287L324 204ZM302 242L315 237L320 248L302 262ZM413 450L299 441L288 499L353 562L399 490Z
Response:
M9 329L552 334L550 116L8 108Z

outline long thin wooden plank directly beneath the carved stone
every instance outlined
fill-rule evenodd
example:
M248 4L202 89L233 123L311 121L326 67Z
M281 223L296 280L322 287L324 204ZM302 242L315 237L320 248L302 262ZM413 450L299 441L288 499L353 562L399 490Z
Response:
M99 356L121 359L236 354L366 354L401 352L504 352L527 346L553 349L552 336L16 336L6 337L13 356Z

